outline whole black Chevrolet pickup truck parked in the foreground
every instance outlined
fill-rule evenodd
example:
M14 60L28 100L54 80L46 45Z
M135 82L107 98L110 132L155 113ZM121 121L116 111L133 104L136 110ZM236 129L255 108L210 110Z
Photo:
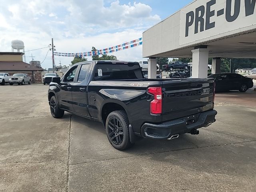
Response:
M50 111L100 121L112 146L125 150L139 137L174 139L215 122L214 79L145 79L138 62L73 65L48 90Z

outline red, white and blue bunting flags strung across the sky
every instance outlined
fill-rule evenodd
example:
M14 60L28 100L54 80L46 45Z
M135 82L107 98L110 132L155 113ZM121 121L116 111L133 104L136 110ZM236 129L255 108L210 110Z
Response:
M112 46L105 49L95 50L95 51L89 51L89 52L80 52L80 53L60 53L60 52L54 52L55 56L62 56L62 57L88 57L88 56L96 56L96 55L104 55L109 54L113 52L118 52L121 50L126 50L129 48L133 48L136 46L142 45L142 38L138 38L136 40L132 40L120 45Z

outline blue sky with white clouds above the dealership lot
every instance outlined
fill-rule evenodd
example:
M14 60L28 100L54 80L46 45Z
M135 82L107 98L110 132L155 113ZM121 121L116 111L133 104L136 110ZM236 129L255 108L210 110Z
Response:
M0 51L11 51L11 41L22 40L25 50L48 46L56 52L87 52L142 37L142 32L193 0L0 0ZM48 49L26 52L26 61L52 66ZM140 61L142 46L113 53L119 60ZM88 57L88 60L91 58ZM69 65L72 58L55 57Z

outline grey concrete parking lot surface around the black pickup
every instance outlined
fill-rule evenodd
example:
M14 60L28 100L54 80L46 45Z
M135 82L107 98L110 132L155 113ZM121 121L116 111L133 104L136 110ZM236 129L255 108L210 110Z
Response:
M256 92L216 95L217 121L199 135L118 151L100 123L52 118L47 90L0 86L0 192L255 191Z

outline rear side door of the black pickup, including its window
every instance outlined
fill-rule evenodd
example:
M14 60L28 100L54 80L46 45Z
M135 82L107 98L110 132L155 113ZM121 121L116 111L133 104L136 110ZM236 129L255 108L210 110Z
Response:
M74 112L84 116L88 116L87 85L90 66L90 63L82 64L80 66L77 81L73 83L72 89Z

